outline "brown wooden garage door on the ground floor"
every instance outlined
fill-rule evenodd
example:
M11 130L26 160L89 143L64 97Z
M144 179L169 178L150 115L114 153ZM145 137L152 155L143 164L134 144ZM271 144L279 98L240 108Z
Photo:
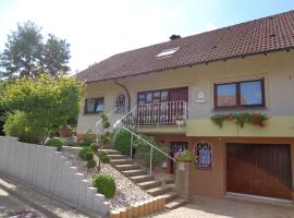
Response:
M289 145L226 144L226 191L292 199Z

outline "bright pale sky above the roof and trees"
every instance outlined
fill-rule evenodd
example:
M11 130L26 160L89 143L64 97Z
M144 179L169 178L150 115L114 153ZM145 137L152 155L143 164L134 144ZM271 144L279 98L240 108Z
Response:
M71 44L71 73L119 52L294 9L294 0L0 0L0 52L17 23Z

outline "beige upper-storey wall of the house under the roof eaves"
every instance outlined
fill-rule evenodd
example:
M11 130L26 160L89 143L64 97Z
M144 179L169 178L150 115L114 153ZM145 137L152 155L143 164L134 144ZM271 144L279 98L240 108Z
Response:
M194 135L194 128L198 125L199 119L209 120L213 113L213 83L230 82L241 80L252 80L265 77L266 86L266 109L261 111L269 112L271 117L293 117L294 120L294 51L280 51L274 53L258 55L246 57L245 59L232 59L207 64L198 64L192 68L181 68L162 72L149 73L139 76L120 78L131 93L132 106L136 105L137 92L161 89L171 87L188 86L189 98L189 125L186 130L191 136ZM197 104L197 92L205 92L206 102ZM106 102L106 112L111 111L113 102L119 94L124 90L115 85L113 81L89 84L87 87L87 97L103 97ZM291 118L292 119L292 118ZM83 109L78 117L78 133L85 133L93 129L98 116L83 114ZM280 121L279 121L280 123ZM230 124L229 124L230 125ZM228 126L229 126L228 125ZM282 125L281 123L279 125ZM230 128L230 126L229 126ZM161 129L164 132L164 129ZM193 132L194 131L194 132ZM219 131L219 130L218 130ZM237 130L232 129L231 133ZM152 131L150 131L152 132ZM156 130L154 130L156 132ZM167 132L183 133L183 130ZM287 135L294 135L294 126L287 124ZM245 133L244 133L245 134ZM246 133L250 135L252 133ZM195 135L197 136L197 135ZM236 135L232 135L236 136ZM275 135L277 136L277 135Z

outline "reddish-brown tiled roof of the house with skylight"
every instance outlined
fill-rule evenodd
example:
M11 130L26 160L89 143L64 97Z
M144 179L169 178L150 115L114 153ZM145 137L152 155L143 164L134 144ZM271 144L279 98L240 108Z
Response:
M170 57L156 57L177 47ZM118 53L76 76L95 82L289 48L294 48L294 11Z

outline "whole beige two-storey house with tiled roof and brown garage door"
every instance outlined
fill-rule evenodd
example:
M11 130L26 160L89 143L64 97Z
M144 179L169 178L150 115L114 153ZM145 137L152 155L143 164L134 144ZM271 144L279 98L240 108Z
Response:
M294 11L120 53L77 78L78 136L122 108L172 156L195 154L192 194L294 201Z

